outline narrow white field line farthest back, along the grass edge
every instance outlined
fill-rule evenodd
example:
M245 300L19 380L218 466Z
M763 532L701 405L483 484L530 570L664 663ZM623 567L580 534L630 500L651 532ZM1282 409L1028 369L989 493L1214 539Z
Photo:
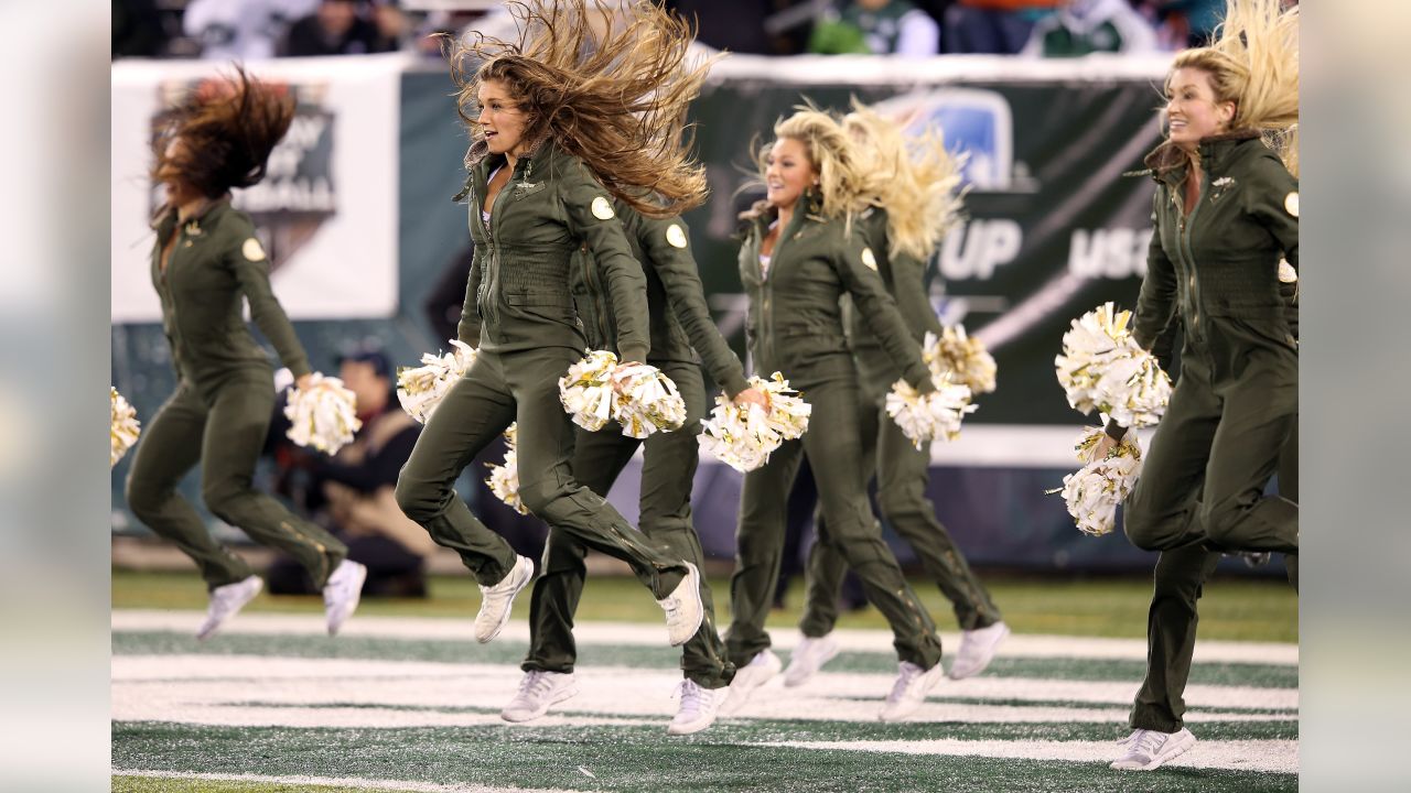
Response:
M463 641L473 639L473 614L466 619L435 617L357 617L339 632L340 636L385 639ZM169 631L195 634L200 611L138 611L113 612L114 632ZM323 614L241 614L220 628L222 634L270 634L327 636ZM639 645L666 646L666 629L636 622L579 622L573 636L580 645ZM889 631L834 631L844 650L892 653ZM502 639L529 642L529 625L511 622ZM777 649L793 649L801 639L796 629L775 631ZM219 642L220 636L210 639ZM948 652L959 646L961 635L943 632L941 642ZM1095 660L1146 660L1146 639L1099 639L1086 636L1012 635L999 648L1002 658L1089 658ZM1208 642L1195 643L1197 663L1270 663L1294 666L1298 645L1278 642Z

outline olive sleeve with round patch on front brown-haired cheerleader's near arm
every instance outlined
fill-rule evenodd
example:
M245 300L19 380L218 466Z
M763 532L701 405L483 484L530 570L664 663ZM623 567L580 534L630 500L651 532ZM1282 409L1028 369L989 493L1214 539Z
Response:
M563 206L569 230L581 237L612 295L618 351L622 361L645 361L652 347L648 330L646 274L632 258L612 196L579 159L563 172ZM564 285L567 288L567 285Z

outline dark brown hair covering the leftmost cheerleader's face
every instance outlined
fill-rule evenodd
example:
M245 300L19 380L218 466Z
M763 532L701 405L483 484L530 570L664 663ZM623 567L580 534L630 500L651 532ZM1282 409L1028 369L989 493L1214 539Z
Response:
M255 185L292 120L293 99L285 86L236 66L233 75L202 82L158 117L151 178L181 182L209 199Z

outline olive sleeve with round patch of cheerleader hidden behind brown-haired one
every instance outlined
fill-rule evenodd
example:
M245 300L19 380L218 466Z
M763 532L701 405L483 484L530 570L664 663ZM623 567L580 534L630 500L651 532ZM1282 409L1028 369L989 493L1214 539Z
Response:
M725 343L725 337L720 334L710 309L706 308L706 288L701 286L696 258L690 251L686 223L680 217L642 216L638 230L642 251L660 277L662 286L666 288L672 313L682 323L691 347L700 353L711 378L734 399L749 387L745 382L745 368Z

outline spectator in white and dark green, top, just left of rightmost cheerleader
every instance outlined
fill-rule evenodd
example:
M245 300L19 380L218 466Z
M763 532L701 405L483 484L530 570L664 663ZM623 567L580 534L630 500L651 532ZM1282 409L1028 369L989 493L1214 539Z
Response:
M1077 58L1089 52L1153 52L1156 30L1127 0L1068 0L1037 24L1022 55Z

